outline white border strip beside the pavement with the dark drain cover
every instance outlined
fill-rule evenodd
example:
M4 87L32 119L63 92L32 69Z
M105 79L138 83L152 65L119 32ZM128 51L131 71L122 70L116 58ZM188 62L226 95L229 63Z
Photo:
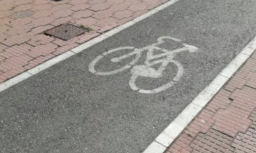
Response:
M43 71L44 69L47 69L47 68L53 66L54 64L57 64L58 62L61 62L65 59L67 59L68 57L71 57L72 55L76 55L79 52L86 50L86 48L92 47L93 45L99 43L100 41L106 40L106 38L109 38L110 36L113 36L114 34L119 33L120 31L123 31L127 27L130 27L131 25L136 24L140 20L150 17L150 15L154 15L154 13L157 13L157 11L163 10L167 6L170 6L174 3L176 3L177 1L179 1L179 0L170 0L164 4L161 4L161 5L157 6L157 8L154 8L154 9L148 11L147 13L141 15L140 17L134 18L134 20L131 20L131 21L129 21L123 25L120 25L118 27L115 27L114 29L111 29L107 33L101 34L100 36L97 36L96 38L93 38L90 41L86 41L82 45L79 45L78 47L75 47L68 52L58 55L58 56L50 59L49 61L43 62L42 64L36 66L35 68L29 69L28 71L20 73L20 75L17 75L15 77L11 78L10 80L7 80L6 82L3 82L2 84L0 84L0 92L12 87L15 84L18 84L19 82L22 82L23 80L26 80L29 77L32 77L33 75L36 75L40 71Z

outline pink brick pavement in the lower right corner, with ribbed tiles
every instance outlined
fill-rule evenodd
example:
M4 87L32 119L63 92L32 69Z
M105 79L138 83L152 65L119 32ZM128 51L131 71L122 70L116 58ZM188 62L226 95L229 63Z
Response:
M256 52L166 153L256 152Z

